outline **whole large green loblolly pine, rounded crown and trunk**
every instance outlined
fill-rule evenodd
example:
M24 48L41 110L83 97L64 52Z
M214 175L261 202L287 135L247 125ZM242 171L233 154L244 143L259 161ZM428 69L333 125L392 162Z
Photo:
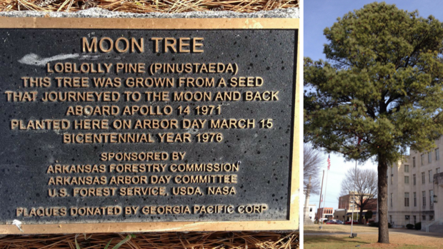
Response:
M443 134L443 24L374 2L324 35L327 61L304 60L304 140L377 161L378 242L389 243L387 169Z

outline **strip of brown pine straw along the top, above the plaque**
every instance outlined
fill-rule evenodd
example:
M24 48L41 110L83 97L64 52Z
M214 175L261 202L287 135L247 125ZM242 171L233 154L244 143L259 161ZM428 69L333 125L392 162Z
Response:
M0 11L66 11L91 7L132 13L255 12L298 7L299 0L0 0Z

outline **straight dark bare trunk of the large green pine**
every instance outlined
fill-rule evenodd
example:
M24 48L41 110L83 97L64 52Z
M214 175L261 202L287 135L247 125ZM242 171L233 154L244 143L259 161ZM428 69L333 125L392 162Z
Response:
M389 244L389 230L388 230L388 193L387 193L387 169L388 163L385 161L382 153L378 155L379 165L377 167L379 175L379 241L378 243Z

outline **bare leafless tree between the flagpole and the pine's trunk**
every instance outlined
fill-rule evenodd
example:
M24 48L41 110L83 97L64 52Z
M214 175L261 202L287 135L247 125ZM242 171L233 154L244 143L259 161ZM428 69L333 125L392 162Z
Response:
M377 197L377 171L362 168L350 168L342 180L340 196L350 195L357 208L359 208L359 223L362 223L363 210L371 203L372 198Z

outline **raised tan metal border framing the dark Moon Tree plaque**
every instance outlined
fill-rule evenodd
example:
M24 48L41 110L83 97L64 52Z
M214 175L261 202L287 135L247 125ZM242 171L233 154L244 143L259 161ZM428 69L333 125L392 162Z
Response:
M112 20L112 21L110 21ZM107 18L51 18L0 17L0 29L293 29L299 31L299 19L107 19ZM294 120L292 170L290 172L289 217L287 220L266 221L209 221L154 223L61 223L0 225L0 234L48 233L142 233L221 230L298 230L299 229L299 156L300 156L300 67L302 61L297 46L297 77L293 99Z

